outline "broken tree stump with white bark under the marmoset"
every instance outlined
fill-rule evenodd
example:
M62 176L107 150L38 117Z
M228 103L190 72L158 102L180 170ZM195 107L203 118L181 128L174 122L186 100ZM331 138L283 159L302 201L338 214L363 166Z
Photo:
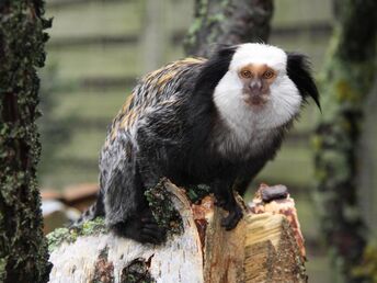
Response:
M244 217L226 231L220 226L226 212L212 195L192 204L184 190L168 180L161 184L168 193L162 199L169 195L179 212L179 233L153 246L114 236L102 219L58 229L48 236L50 282L306 282L302 239L297 240L301 236L288 195L266 202L261 190L273 188L261 186L251 207L238 197Z

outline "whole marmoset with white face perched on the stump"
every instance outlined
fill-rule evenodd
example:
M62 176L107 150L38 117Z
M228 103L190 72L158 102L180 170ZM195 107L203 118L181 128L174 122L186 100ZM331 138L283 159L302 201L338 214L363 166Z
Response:
M229 214L242 217L241 193L281 147L286 131L319 94L307 58L265 44L220 47L142 78L114 118L100 157L100 193L83 218L105 216L117 235L160 244L145 191L162 177L180 186L208 184Z

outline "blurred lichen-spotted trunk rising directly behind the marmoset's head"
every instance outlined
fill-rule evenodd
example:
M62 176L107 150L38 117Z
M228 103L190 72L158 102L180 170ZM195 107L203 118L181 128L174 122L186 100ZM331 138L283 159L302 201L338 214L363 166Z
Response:
M272 0L195 0L186 54L207 57L215 44L266 42L272 13Z

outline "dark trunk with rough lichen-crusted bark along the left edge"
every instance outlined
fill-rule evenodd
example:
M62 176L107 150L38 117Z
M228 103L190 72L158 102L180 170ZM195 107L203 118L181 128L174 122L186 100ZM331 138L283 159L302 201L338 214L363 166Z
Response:
M45 60L39 0L0 2L0 282L47 282L36 166L36 68Z

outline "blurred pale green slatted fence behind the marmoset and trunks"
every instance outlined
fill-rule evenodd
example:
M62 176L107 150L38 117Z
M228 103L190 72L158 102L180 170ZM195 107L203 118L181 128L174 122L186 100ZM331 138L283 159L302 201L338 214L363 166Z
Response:
M54 27L47 67L41 73L43 189L96 183L106 126L137 78L184 56L183 38L193 9L193 0L47 0L46 13L54 16ZM275 1L270 43L308 54L319 77L332 27L331 0ZM376 238L377 100L376 95L369 98L359 154L359 193L364 218ZM318 115L313 105L306 106L277 158L254 181L250 195L260 182L289 188L309 251L310 282L324 283L333 282L335 275L321 242L311 197L311 134Z

